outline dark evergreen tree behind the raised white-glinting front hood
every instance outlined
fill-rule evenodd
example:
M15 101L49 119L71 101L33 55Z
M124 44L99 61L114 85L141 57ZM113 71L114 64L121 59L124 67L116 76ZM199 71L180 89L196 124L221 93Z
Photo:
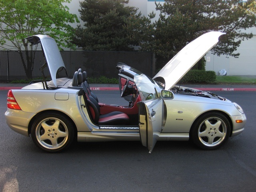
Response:
M160 18L154 22L151 50L165 60L172 58L188 42L209 31L221 31L213 53L238 57L234 53L242 40L252 38L246 29L256 26L256 2L248 0L165 0L156 4ZM142 47L147 49L147 47Z

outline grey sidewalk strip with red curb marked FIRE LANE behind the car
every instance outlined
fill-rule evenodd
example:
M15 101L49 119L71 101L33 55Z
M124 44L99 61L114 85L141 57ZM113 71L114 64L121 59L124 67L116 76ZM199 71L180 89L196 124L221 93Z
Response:
M28 84L0 83L0 90L21 89ZM256 91L256 84L182 84L202 91ZM118 84L90 84L91 90L119 90Z

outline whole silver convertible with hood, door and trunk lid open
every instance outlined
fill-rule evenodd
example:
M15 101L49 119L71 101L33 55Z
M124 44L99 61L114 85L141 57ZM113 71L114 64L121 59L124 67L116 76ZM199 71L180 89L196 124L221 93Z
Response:
M192 140L202 149L219 148L244 130L242 108L216 94L175 85L223 34L208 32L190 42L153 79L118 63L120 93L128 106L100 103L80 69L72 79L56 78L67 72L54 39L28 37L31 44L41 44L52 80L43 76L42 82L9 90L6 122L47 152L60 152L73 140L140 140L149 152L157 140Z

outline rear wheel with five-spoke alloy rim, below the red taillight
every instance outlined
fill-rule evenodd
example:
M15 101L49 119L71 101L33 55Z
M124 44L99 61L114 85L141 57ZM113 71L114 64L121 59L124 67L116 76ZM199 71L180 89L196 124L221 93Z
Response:
M32 124L33 142L46 152L60 152L72 143L74 126L71 120L58 113L44 113Z

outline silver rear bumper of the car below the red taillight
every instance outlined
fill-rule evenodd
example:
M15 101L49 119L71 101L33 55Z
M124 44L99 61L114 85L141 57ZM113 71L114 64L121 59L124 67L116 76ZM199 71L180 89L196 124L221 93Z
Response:
M7 125L15 132L27 137L29 137L28 124L34 115L34 113L13 109L7 109L4 114Z

